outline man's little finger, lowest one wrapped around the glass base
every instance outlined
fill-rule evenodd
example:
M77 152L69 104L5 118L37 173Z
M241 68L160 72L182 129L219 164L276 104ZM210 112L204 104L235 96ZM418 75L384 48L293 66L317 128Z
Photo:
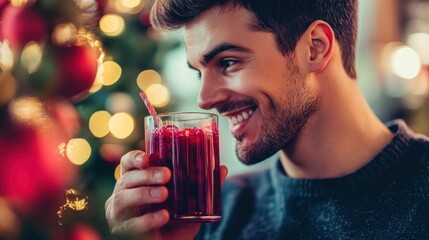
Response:
M170 215L165 209L131 218L112 229L114 235L122 236L126 233L133 233L142 239L154 239L154 234L159 234L159 229L168 223ZM155 230L155 231L154 231Z

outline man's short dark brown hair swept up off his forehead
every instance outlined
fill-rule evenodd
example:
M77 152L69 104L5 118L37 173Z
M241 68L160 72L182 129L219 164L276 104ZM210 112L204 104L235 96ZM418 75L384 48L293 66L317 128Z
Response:
M272 32L280 52L290 53L316 20L333 29L342 52L343 66L356 78L355 50L358 0L156 0L152 8L155 28L177 29L213 7L244 7L255 17L255 30Z

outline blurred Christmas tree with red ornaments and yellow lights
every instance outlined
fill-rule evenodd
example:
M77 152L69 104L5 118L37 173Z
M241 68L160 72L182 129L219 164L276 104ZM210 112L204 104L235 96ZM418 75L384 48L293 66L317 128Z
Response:
M158 72L178 42L150 5L0 0L1 239L108 238L120 157L144 147L139 92L169 109Z

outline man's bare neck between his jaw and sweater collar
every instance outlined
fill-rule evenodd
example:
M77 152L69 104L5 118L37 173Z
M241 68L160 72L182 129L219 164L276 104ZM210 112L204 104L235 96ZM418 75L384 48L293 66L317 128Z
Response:
M366 103L357 81L323 79L318 111L295 141L280 151L293 178L322 179L353 173L370 162L392 139Z

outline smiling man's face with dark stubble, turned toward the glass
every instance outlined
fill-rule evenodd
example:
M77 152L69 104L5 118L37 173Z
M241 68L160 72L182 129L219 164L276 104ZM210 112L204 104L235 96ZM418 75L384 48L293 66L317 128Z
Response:
M201 74L198 103L228 118L245 164L288 147L317 108L294 55L283 55L272 33L250 23L244 8L212 8L184 31L189 65Z

